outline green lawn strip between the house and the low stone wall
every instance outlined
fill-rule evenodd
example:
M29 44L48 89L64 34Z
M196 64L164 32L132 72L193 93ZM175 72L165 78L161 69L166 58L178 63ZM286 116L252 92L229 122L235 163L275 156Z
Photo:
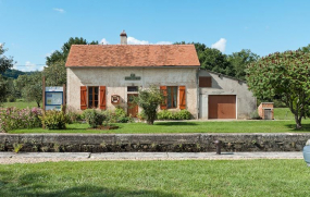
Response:
M141 133L297 133L310 132L310 121L302 121L302 130L295 130L294 121L231 121L231 122L156 122L119 123L119 130L100 131L89 130L88 124L70 124L67 130L15 130L18 133L107 133L107 134L141 134Z

